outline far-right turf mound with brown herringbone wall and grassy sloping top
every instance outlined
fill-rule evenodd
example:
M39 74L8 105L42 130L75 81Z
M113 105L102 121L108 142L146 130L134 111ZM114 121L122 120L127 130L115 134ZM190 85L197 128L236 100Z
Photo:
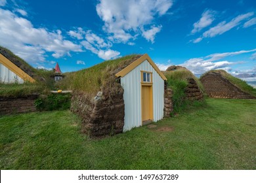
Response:
M230 99L255 99L256 91L244 80L236 78L224 70L212 70L200 77L205 93L209 97Z

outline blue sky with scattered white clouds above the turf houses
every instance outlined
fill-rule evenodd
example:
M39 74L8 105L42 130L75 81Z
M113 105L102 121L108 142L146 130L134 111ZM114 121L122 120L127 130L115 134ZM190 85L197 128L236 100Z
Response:
M0 45L64 72L147 53L161 70L256 74L256 1L0 0Z

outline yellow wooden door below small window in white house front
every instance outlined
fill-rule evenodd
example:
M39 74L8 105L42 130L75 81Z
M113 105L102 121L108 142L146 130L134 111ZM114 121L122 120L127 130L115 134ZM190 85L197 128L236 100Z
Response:
M142 122L146 120L153 120L152 86L142 86L141 99Z

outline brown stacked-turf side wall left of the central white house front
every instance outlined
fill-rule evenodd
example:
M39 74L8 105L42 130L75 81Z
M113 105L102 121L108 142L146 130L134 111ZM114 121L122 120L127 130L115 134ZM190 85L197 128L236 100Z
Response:
M116 86L114 92L102 90L94 98L85 93L74 92L72 112L82 118L82 131L90 137L104 137L123 132L125 104L123 89Z

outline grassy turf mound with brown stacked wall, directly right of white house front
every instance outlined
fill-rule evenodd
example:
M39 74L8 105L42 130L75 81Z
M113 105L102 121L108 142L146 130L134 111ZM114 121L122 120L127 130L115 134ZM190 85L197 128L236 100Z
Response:
M203 86L188 69L172 65L164 71L167 87L173 90L172 102L174 112L189 105L191 101L203 100Z

